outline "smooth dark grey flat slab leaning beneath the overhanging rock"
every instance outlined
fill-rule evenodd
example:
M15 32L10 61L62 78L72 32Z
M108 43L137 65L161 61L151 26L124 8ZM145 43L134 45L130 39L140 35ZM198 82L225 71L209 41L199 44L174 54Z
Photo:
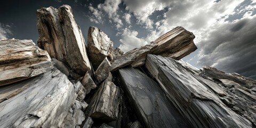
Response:
M189 127L189 123L153 79L134 68L118 71L126 97L143 126Z

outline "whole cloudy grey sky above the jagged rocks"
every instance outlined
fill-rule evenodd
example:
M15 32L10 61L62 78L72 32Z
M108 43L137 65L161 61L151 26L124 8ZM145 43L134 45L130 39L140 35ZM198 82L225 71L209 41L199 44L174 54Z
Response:
M127 52L182 26L194 33L198 47L183 60L256 78L255 0L9 0L0 4L0 38L36 43L36 10L62 4L72 7L85 39L89 26L96 26Z

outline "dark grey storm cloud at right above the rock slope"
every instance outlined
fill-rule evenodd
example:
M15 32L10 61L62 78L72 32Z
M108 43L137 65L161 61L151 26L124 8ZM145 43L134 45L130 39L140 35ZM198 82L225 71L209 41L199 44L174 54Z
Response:
M256 17L226 22L211 31L198 63L256 78Z

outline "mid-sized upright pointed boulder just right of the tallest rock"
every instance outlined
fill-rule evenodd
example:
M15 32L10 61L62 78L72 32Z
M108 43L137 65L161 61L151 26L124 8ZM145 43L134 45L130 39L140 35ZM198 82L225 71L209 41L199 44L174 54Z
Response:
M110 61L115 58L113 42L110 38L97 27L89 27L88 54L92 62L92 67L96 70L100 63L107 57Z

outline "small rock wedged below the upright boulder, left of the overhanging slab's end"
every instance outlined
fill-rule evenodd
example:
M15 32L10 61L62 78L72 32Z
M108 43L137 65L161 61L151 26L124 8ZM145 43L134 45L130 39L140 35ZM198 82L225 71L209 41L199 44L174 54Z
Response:
M108 61L106 57L101 63L98 69L95 71L95 76L99 83L101 83L104 79L108 77L108 73L111 70L111 63Z

